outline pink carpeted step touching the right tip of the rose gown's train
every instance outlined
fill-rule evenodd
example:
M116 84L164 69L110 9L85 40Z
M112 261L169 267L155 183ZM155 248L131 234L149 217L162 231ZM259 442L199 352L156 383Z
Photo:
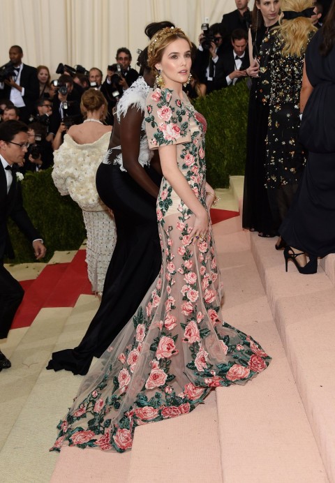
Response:
M273 358L269 368L244 387L216 389L223 480L325 482L325 468L249 249L248 233L219 228L215 235L225 288L223 318L253 336Z

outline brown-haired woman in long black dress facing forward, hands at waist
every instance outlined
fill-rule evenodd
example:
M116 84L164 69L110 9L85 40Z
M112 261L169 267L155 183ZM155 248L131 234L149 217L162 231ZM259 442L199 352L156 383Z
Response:
M269 35L271 29L278 25L279 8L279 0L255 1L251 29L253 45L249 46L253 49L253 59L246 69L253 82L248 108L242 225L248 230L258 231L262 237L276 235L265 188L265 138L269 117Z

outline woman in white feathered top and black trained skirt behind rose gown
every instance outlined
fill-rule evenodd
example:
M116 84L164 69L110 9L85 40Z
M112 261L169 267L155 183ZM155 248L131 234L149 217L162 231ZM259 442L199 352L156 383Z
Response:
M167 25L172 24L150 24L149 37ZM86 374L93 357L103 354L135 313L161 267L156 218L161 174L152 167L144 127L145 101L154 77L147 66L147 50L139 60L144 75L119 101L110 150L96 175L98 194L113 210L117 226L117 244L107 270L101 306L76 348L53 352L47 369L54 371Z

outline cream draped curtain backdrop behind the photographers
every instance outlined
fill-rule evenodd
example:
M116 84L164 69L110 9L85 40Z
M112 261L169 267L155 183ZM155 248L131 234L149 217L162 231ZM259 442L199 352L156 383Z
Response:
M118 47L131 50L135 67L150 22L170 20L197 43L205 17L221 22L234 8L234 0L0 0L0 65L20 45L26 64L49 66L53 77L59 62L105 73Z

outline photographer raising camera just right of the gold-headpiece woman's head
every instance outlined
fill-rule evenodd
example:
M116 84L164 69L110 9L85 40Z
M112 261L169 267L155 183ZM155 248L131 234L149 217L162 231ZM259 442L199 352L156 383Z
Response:
M202 24L199 46L195 54L193 70L201 84L206 85L206 94L216 90L215 79L221 77L222 66L218 60L223 54L223 29L221 24Z

